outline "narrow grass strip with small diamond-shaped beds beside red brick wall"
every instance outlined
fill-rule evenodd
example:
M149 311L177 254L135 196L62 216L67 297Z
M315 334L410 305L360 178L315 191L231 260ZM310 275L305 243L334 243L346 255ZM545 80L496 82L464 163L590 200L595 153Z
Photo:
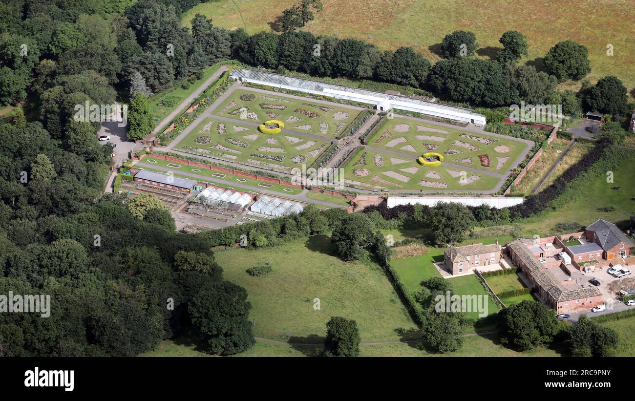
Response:
M199 176L204 176L206 178L209 178L209 180L207 181L210 183L217 183L217 181L215 180L233 181L236 183L236 185L232 185L232 188L236 190L240 190L241 185L252 185L253 187L262 187L261 185L258 185L258 184L263 184L263 185L267 185L267 187L262 187L262 188L280 192L281 194L296 195L302 192L300 188L291 187L290 185L280 185L276 183L270 183L267 181L255 180L254 178L237 176L237 175L227 174L227 173L220 173L219 171L204 169L197 166L188 166L187 164L177 164L176 162L164 161L162 159L154 159L152 156L145 157L144 159L142 159L141 162L148 164L150 166L169 168L170 171L172 171L175 174L175 176L189 178L190 180L192 180L192 176L187 176L187 175L179 174L179 173L192 173ZM158 169L158 168L152 169L145 166L143 166L142 168L149 171L157 171L159 173L165 173L165 170ZM217 174L217 175L213 175L213 174ZM271 187L269 187L269 185L271 185ZM221 184L221 183L219 183L218 186L227 187L226 184ZM250 192L250 191L253 191L253 190L246 190L246 192ZM257 191L253 191L253 192L257 192Z

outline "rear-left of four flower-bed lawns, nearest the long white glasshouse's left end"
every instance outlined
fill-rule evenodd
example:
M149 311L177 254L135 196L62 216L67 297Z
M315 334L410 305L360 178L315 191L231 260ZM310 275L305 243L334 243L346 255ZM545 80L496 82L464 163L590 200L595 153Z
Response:
M353 108L335 103L316 103L284 95L264 95L249 89L237 89L214 114L262 124L267 120L284 122L285 129L335 137L359 114Z

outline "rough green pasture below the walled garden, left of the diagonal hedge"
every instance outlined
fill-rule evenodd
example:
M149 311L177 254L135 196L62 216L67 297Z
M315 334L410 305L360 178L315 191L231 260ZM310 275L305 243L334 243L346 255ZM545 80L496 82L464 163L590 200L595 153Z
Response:
M356 320L362 341L396 341L396 330L416 328L379 266L342 262L328 237L220 251L215 258L225 279L247 290L256 336L282 339L288 332L291 341L321 343L331 316ZM273 271L263 277L245 272L261 261L271 261ZM315 298L320 310L314 310Z

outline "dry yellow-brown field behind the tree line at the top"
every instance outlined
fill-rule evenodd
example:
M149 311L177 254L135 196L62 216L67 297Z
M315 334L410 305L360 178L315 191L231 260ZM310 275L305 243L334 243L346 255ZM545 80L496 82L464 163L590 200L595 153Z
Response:
M182 23L190 25L196 13L203 13L220 27L243 27L251 34L271 31L276 27L273 21L292 3L291 0L201 3L184 14ZM561 2L554 7L547 0L514 3L484 0L474 6L469 0L395 0L387 7L378 0L342 0L324 3L324 10L316 14L316 20L303 29L316 35L368 39L382 49L415 46L433 62L439 59L434 53L437 45L454 30L471 30L476 34L477 56L481 58L497 54L502 48L498 39L506 30L519 30L527 36L529 44L529 54L521 62L538 69L542 68L542 58L549 48L569 39L589 48L592 69L589 79L597 81L603 76L615 75L630 92L635 86L635 69L632 69L635 52L630 50L635 24L623 13L629 4L626 0L580 0ZM425 23L422 23L423 16ZM607 55L609 44L613 46L612 56ZM561 87L577 89L580 82L564 82Z

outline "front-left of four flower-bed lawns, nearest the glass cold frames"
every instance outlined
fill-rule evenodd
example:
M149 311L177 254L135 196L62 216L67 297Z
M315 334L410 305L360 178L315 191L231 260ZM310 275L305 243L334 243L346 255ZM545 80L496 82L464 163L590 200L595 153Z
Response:
M328 140L293 134L267 135L257 126L241 124L239 120L225 122L206 117L193 124L194 129L175 149L282 173L302 169L302 164L310 166L330 145Z

